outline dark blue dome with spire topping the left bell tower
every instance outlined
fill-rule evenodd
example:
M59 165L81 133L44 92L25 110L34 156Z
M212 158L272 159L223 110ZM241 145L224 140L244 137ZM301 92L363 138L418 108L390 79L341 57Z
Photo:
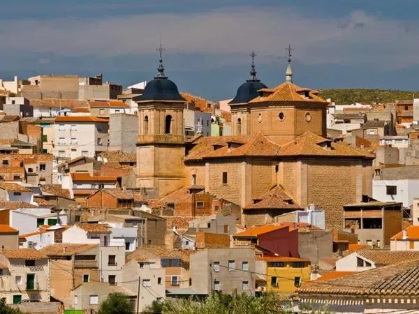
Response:
M142 92L139 100L177 100L185 101L179 94L179 90L174 82L168 79L164 75L163 58L161 52L163 48L159 47L160 59L159 68L157 68L158 74L154 77L154 80L150 81L145 85L145 89Z

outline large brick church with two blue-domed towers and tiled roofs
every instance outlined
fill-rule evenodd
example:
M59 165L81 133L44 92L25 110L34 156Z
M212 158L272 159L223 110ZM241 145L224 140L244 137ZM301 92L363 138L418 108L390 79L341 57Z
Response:
M341 228L343 205L372 195L374 156L326 133L328 102L293 82L291 54L286 80L267 87L249 79L230 101L233 135L191 140L184 136L185 100L164 73L138 100L137 186L156 198L191 187L242 207L243 225L314 204L326 227Z

